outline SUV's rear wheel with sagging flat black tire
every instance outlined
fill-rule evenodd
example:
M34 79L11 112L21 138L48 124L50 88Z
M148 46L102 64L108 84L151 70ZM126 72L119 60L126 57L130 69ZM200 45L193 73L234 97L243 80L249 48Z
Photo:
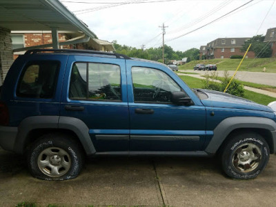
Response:
M79 175L82 161L82 150L70 135L43 135L28 150L28 168L38 179L73 179Z

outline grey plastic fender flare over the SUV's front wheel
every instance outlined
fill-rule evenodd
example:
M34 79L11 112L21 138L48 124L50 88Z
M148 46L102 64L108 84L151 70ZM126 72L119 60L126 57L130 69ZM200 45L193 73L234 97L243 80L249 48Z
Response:
M215 154L226 137L233 130L239 128L262 128L269 130L273 137L273 151L276 150L276 123L272 119L264 117L229 117L224 119L217 125L214 135L205 152Z

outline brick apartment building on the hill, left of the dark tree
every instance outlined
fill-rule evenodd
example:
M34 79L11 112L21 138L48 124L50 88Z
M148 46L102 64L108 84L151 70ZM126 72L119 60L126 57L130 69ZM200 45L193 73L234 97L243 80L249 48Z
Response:
M230 58L232 55L244 55L241 48L246 40L250 37L233 37L233 38L218 38L207 43L206 46L201 46L199 56L205 55L207 59L224 59ZM205 48L204 48L205 47ZM203 50L205 49L205 50ZM253 51L249 51L246 58L255 57Z

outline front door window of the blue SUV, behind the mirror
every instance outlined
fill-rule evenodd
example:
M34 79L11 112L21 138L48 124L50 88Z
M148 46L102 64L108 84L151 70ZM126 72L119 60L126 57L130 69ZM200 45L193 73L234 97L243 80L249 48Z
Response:
M165 72L153 68L132 67L134 101L171 103L171 93L181 88Z

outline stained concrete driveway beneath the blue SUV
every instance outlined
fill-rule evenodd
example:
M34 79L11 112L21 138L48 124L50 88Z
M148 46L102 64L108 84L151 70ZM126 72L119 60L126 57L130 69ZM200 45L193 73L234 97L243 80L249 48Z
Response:
M41 181L20 155L0 150L0 206L275 206L276 156L259 177L226 177L216 159L101 157L77 179Z

